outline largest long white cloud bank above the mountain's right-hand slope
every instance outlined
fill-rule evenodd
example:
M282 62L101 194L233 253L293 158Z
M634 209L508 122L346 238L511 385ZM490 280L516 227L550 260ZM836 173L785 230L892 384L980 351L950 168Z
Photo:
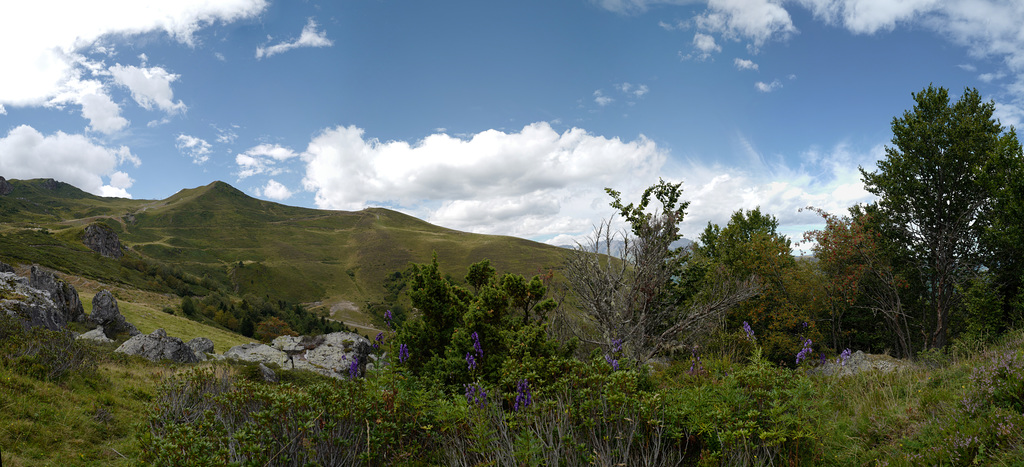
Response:
M595 203L607 205L603 187L642 189L656 181L666 157L643 136L559 133L545 122L415 143L336 127L301 155L303 186L321 208L387 205L452 228L526 238L589 228Z

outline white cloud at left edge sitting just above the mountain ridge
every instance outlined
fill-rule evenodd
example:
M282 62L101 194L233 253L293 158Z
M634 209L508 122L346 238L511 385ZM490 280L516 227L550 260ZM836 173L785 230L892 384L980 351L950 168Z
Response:
M133 180L117 170L126 164L140 164L128 147L104 146L80 134L44 135L20 125L0 137L0 174L6 178L53 178L93 195L131 198L126 188Z

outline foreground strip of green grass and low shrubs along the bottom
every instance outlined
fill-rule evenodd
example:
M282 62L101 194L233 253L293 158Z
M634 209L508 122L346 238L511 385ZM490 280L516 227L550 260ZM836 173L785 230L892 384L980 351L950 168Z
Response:
M547 385L452 394L402 364L344 381L280 371L282 382L266 383L244 365L33 345L61 336L24 336L6 323L0 450L9 466L1024 462L1022 332L985 348L954 343L894 373L836 377L770 364L737 330L721 345L729 352L617 370L595 354ZM68 367L84 354L96 359L79 362L94 364Z

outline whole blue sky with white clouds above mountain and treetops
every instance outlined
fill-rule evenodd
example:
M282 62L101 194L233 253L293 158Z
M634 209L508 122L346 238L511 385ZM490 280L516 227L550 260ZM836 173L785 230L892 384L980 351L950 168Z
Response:
M0 175L162 199L223 180L571 243L663 177L683 224L868 202L933 83L1024 116L1024 3L989 0L16 2Z

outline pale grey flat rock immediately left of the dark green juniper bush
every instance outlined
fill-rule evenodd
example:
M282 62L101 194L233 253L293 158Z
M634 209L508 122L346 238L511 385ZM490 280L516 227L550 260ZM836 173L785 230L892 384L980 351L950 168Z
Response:
M289 370L308 370L332 378L361 376L371 360L370 341L353 333L316 337L281 336L271 345L245 344L224 352L227 358L275 364Z

